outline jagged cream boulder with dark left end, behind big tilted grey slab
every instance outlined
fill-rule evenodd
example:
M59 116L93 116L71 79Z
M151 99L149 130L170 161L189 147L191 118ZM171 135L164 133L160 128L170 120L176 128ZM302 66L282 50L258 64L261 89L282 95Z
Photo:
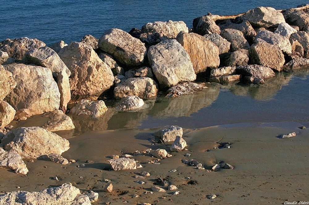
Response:
M154 44L166 39L176 39L180 31L189 32L183 21L155 21L142 26L140 39L143 42Z

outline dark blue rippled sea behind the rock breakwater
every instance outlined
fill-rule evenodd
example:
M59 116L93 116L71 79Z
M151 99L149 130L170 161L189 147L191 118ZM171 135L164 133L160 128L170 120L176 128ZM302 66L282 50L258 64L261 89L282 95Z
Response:
M231 15L258 6L288 9L304 0L1 0L0 41L37 38L47 45L96 38L110 28L130 31L154 21L184 21L207 14ZM308 3L308 2L307 2Z

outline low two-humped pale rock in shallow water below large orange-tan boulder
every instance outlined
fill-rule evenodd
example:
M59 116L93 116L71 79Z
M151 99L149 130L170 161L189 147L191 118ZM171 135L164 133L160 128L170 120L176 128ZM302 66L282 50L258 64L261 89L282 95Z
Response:
M74 115L89 115L91 117L100 117L107 111L107 107L103 100L91 102L83 99L78 104L70 109L70 113Z

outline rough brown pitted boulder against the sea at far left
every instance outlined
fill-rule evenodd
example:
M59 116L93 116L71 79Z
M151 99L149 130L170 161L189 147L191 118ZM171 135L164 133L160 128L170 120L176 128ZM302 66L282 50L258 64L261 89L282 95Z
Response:
M23 59L25 53L34 48L46 46L46 44L38 39L29 39L23 37L20 39L5 39L0 42L0 50L7 52L10 58Z

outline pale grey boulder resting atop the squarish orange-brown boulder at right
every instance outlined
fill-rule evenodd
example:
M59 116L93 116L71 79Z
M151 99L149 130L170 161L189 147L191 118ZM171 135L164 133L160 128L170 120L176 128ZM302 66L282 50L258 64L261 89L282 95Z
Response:
M254 39L255 43L263 42L277 45L282 52L290 55L292 53L292 46L287 37L280 34L273 33L271 31L259 31Z

